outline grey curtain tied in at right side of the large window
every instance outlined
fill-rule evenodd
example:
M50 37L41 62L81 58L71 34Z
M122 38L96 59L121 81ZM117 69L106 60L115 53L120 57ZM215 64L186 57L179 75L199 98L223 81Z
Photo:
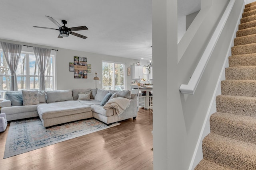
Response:
M50 59L50 54L51 54L51 49L45 49L45 48L40 48L40 47L33 47L34 53L36 55L36 63L38 64L38 68L40 70L40 90L46 90L45 88L45 76L44 72L47 68L49 59Z

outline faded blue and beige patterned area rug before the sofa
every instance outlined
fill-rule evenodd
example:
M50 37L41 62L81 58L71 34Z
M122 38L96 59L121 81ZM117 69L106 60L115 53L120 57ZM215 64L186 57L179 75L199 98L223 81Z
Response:
M12 121L6 139L4 158L46 147L75 137L80 137L116 125L120 125L120 123L113 123L112 125L107 126L96 119L85 119L46 129L39 118Z

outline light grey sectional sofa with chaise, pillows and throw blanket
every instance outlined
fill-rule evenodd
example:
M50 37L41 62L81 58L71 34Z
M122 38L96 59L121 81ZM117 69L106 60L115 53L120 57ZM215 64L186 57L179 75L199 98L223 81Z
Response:
M8 91L1 102L7 121L40 117L44 127L94 117L107 125L137 116L129 90L72 89Z

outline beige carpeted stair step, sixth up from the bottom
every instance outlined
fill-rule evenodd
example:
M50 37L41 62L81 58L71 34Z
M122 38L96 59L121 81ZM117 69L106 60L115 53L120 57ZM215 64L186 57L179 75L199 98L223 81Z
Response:
M256 80L256 66L238 66L225 69L226 80Z

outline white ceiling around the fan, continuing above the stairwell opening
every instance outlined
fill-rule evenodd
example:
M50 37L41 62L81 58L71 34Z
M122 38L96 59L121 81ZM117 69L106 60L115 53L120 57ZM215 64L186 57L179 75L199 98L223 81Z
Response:
M195 10L195 1L200 2L178 0L179 12ZM0 16L1 39L131 59L152 58L151 0L1 0ZM88 30L75 32L88 38L70 35L58 39L57 30L32 27L58 29L45 16L61 25L66 20L67 27L86 25Z

